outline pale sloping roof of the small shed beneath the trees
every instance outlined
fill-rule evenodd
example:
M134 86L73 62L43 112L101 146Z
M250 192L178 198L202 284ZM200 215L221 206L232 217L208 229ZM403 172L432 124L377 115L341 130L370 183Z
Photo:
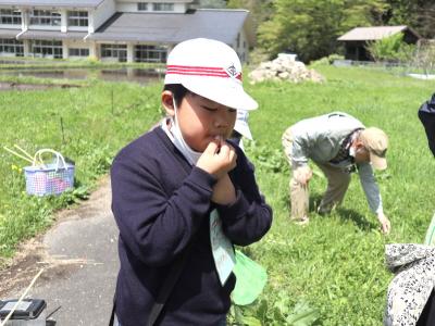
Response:
M400 26L377 26L377 27L356 27L345 35L341 35L338 40L340 41L350 41L350 40L378 40L385 37L410 30L418 38L420 36L414 33L411 28L406 25Z

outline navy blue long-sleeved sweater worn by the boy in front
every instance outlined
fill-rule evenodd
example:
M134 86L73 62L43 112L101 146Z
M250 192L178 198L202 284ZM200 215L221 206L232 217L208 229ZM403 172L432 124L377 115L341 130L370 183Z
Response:
M260 240L272 223L251 164L236 149L237 166L229 177L237 199L231 205L211 202L214 177L190 166L160 127L116 155L111 170L121 261L115 300L123 326L146 325L171 265L188 243L159 325L215 325L228 312L235 276L221 286L210 246L210 212L217 210L225 235L238 246Z

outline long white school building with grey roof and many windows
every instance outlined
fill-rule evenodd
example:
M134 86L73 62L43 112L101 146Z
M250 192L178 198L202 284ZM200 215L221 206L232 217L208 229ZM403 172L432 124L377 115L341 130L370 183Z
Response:
M246 10L192 9L192 0L0 0L0 55L165 62L178 42L221 40L249 60Z

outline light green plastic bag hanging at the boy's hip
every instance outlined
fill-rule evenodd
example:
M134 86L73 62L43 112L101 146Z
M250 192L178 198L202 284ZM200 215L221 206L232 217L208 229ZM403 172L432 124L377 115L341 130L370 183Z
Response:
M236 265L233 272L236 275L233 302L237 305L251 304L263 291L268 280L265 268L236 250Z

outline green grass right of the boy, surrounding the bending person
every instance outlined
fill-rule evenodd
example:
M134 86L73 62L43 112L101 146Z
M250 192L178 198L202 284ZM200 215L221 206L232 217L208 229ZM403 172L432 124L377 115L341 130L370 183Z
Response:
M381 325L393 277L384 266L384 244L423 242L435 211L431 196L435 160L417 116L435 84L374 70L319 70L326 76L325 84L263 83L249 87L260 110L250 115L256 142L247 152L274 210L272 230L250 251L269 271L263 296L266 315L275 315L276 306L287 297L284 301L289 305L308 301L318 308L322 325ZM302 118L332 111L350 113L389 136L389 166L377 174L385 213L393 225L389 236L380 234L357 175L335 213L320 216L312 212L304 228L289 222L289 170L281 136ZM310 187L314 206L325 190L325 179L314 176ZM265 325L281 324L264 317L260 305L245 313L260 316Z

